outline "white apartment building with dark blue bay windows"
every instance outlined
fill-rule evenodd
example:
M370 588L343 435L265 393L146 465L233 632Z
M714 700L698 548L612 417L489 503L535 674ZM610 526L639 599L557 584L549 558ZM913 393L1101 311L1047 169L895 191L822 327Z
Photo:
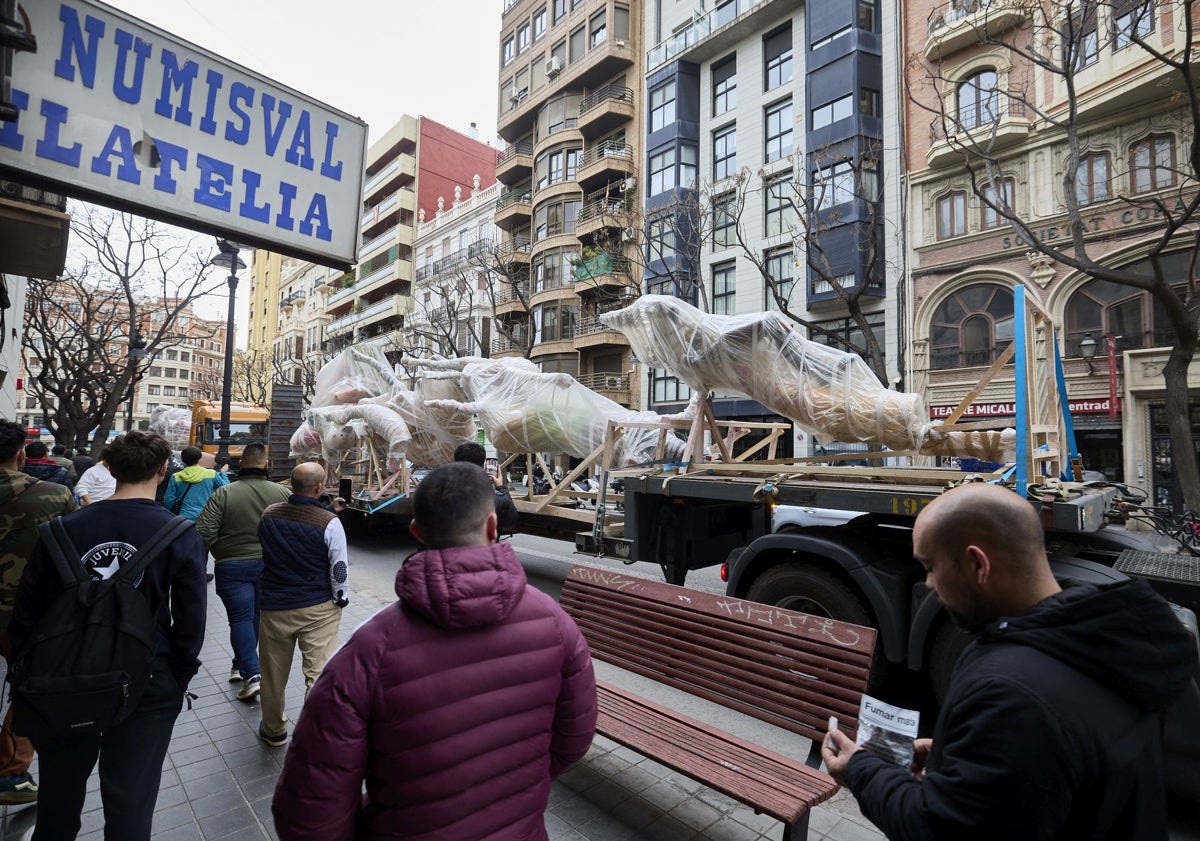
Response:
M780 308L781 298L820 325L809 338L865 348L833 278L862 293L899 376L893 25L877 0L648 0L648 292L730 316ZM666 371L648 377L659 410L690 397ZM714 413L782 420L738 396L716 395Z

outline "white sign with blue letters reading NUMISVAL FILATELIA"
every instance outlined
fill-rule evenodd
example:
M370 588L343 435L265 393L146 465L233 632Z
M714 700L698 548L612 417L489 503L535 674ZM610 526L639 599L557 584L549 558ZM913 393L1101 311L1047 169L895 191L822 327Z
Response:
M95 0L25 0L0 170L348 268L366 124Z

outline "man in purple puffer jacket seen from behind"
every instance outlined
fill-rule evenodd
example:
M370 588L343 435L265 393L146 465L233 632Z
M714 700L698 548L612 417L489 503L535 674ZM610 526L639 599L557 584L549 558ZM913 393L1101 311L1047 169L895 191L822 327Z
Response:
M412 531L427 548L396 573L400 601L308 693L275 829L281 841L546 841L550 783L595 731L587 642L497 542L492 482L474 464L421 481Z

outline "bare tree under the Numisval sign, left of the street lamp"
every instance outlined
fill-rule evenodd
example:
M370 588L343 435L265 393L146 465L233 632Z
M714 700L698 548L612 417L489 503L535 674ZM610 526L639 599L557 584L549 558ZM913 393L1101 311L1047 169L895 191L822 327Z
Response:
M150 361L188 338L181 318L191 305L223 278L210 278L196 247L152 221L91 205L72 210L82 262L58 281L29 284L28 389L54 407L46 422L55 440L97 450ZM143 306L149 301L152 313Z

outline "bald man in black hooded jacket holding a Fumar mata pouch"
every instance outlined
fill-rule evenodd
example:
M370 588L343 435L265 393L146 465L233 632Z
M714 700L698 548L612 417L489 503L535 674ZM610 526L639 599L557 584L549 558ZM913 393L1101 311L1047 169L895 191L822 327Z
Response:
M992 485L935 499L912 540L977 641L913 768L826 738L863 815L893 840L1165 840L1163 713L1196 674L1168 603L1144 581L1060 587L1033 506Z

